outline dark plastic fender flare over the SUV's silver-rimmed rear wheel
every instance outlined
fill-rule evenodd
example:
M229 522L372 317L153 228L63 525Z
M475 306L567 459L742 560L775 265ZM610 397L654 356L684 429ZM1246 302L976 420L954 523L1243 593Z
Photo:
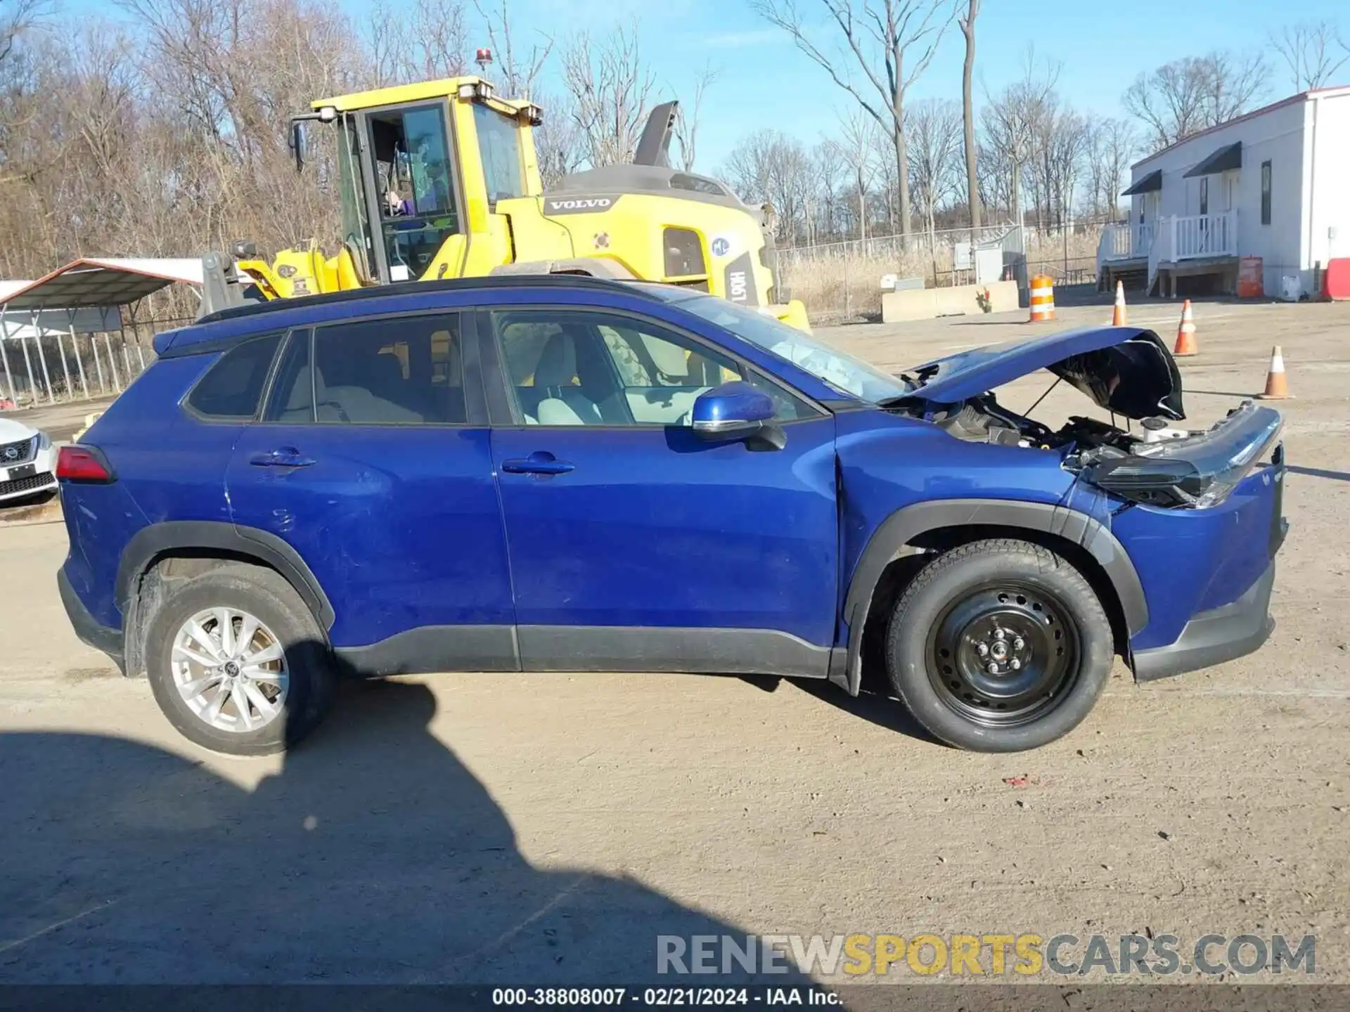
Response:
M333 606L300 553L275 534L225 521L173 519L138 530L122 551L122 560L117 563L117 605L127 600L135 582L157 556L181 549L232 552L266 563L286 578L324 629L332 627ZM126 614L126 609L123 613Z

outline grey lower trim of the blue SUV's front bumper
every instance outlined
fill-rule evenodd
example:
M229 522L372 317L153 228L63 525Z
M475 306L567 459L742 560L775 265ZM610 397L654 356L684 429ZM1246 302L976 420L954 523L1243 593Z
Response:
M1257 650L1274 629L1270 618L1270 587L1274 560L1241 598L1231 605L1193 615L1177 641L1150 650L1135 650L1134 677L1152 681L1199 671Z

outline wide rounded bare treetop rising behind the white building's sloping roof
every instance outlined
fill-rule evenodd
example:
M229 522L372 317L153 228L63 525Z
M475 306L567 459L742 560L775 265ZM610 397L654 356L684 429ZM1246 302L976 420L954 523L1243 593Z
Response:
M1166 147L1247 112L1265 90L1270 67L1260 54L1215 51L1139 74L1120 104L1141 120L1154 147Z

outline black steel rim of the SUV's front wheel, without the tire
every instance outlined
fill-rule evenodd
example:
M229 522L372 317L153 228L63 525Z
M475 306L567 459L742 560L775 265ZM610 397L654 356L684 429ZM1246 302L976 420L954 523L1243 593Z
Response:
M929 680L959 715L1015 727L1053 710L1079 669L1079 634L1049 591L1013 583L972 590L929 634Z

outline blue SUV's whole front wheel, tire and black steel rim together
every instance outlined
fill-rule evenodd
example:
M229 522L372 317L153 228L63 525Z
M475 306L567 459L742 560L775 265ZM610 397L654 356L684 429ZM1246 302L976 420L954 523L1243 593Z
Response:
M891 613L891 687L934 737L1022 752L1073 730L1111 675L1115 640L1091 584L1027 541L937 556Z

